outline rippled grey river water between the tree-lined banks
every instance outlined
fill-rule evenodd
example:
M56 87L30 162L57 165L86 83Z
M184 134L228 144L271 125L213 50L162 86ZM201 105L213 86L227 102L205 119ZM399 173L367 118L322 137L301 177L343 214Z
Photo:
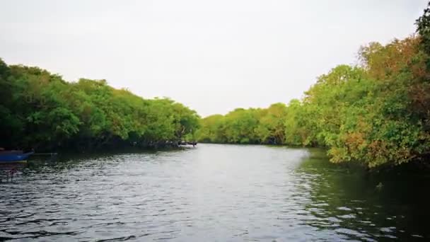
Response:
M320 149L195 149L32 161L0 183L0 241L426 241L425 175Z

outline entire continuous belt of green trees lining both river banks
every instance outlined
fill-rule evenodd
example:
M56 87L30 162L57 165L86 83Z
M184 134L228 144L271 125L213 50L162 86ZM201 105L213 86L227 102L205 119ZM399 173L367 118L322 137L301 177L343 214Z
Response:
M62 76L0 59L0 147L165 148L178 142L320 146L330 161L368 168L430 154L430 10L417 33L359 49L359 64L318 77L300 100L201 118L168 98L144 99L105 80Z

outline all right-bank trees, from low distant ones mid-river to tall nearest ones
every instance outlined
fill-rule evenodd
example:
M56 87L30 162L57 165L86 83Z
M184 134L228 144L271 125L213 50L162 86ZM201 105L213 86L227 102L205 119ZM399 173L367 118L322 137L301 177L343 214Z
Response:
M301 100L202 119L202 142L326 146L333 162L369 167L430 151L430 10L417 35L359 50L360 63L318 77Z

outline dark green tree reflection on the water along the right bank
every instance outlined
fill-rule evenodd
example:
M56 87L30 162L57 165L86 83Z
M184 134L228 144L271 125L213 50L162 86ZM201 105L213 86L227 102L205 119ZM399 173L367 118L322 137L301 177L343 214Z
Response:
M406 172L366 173L361 168L328 163L323 151L296 170L310 203L306 223L329 234L364 241L411 241L429 238L430 178Z

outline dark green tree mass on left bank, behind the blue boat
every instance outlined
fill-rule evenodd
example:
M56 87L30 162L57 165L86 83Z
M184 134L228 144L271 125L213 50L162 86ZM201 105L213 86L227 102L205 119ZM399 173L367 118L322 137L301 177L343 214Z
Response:
M104 80L69 83L0 59L0 146L38 151L159 147L192 136L199 116L169 99L146 100Z

